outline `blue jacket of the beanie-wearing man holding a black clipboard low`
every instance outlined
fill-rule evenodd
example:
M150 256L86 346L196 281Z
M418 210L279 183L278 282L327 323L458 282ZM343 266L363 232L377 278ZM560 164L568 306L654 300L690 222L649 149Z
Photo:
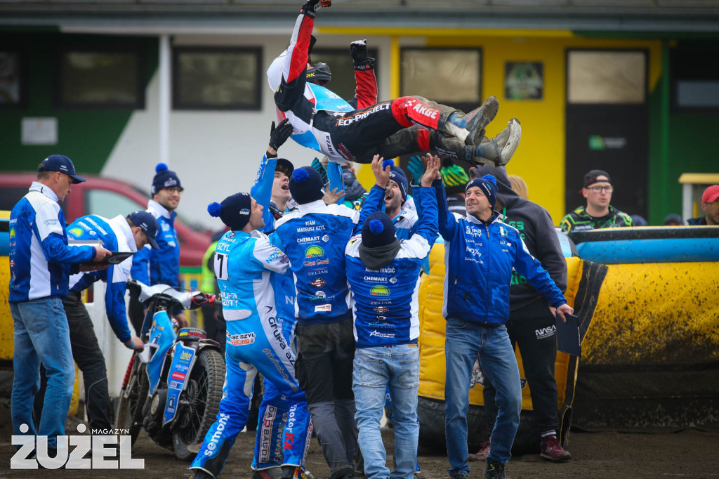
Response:
M512 270L523 275L555 308L567 301L527 250L519 232L500 222L493 212L489 222L449 213L444 188L438 189L439 234L444 238L445 318L498 325L509 319ZM424 204L422 207L424 208Z

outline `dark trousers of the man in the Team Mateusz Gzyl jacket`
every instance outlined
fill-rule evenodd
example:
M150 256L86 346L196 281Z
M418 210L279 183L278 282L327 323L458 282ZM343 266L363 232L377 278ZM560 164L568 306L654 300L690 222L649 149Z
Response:
M296 337L295 375L307 396L330 479L352 475L357 455L352 317L335 323L297 324Z

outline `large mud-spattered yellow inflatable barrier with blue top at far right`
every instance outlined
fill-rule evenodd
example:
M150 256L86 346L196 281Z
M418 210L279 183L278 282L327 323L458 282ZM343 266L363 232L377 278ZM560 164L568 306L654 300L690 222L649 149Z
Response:
M608 265L582 344L574 423L587 428L719 422L719 227L570 234Z

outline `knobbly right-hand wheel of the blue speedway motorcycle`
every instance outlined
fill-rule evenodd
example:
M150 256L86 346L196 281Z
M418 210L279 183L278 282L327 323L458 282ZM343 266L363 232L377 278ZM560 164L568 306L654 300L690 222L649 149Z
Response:
M219 411L224 385L224 358L216 350L206 348L198 352L186 386L186 401L178 411L173 428L175 455L180 460L191 460L196 452L188 446L202 442Z

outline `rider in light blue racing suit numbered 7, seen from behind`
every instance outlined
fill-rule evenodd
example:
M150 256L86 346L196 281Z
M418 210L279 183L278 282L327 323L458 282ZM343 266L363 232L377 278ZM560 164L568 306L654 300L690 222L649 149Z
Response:
M285 273L290 261L259 231L265 226L262 206L249 194L228 196L222 204L209 205L208 211L231 228L217 242L215 252L215 275L227 323L227 372L217 419L190 468L215 478L221 473L237 434L247 422L252 384L259 371L285 398L285 407L278 407L276 414L288 417L281 467L282 477L291 478L297 467L304 467L311 429L305 394L295 378L295 354L282 334L272 287L272 276ZM258 450L260 446L255 444L255 456L269 455ZM277 476L256 470L253 477Z

